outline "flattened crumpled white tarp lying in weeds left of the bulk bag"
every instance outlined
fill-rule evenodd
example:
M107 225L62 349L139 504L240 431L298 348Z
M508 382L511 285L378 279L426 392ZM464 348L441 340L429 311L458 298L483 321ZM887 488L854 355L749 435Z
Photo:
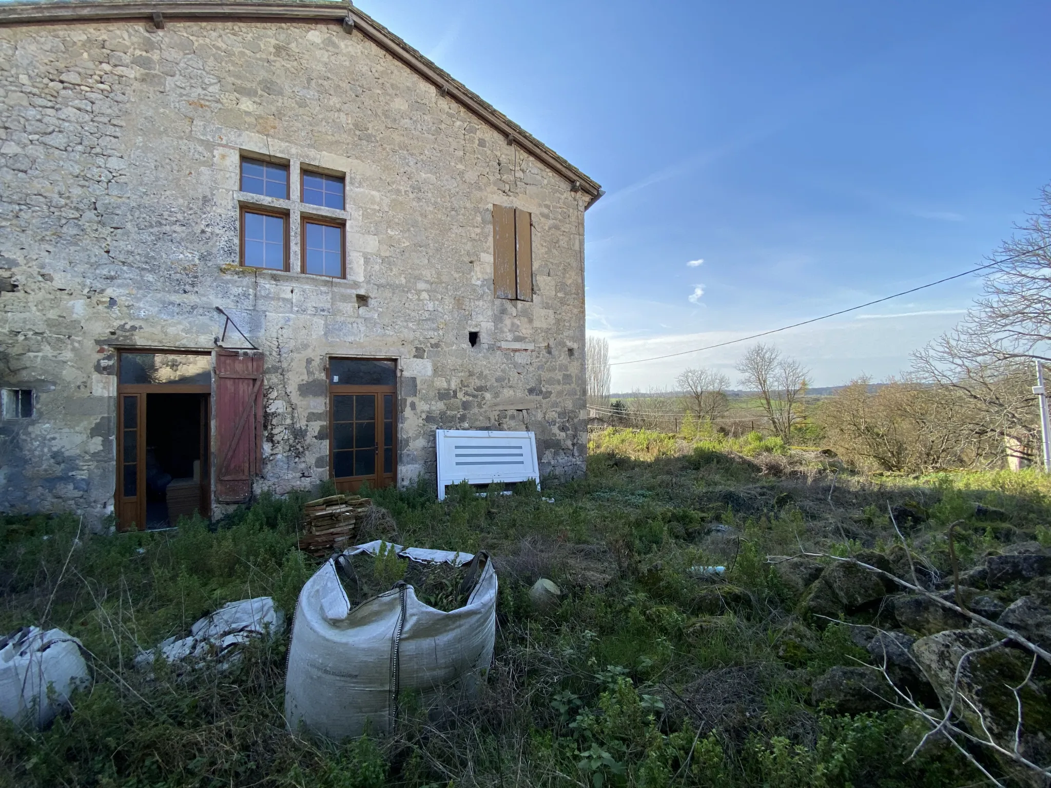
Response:
M270 637L285 631L285 614L273 606L270 597L254 597L230 602L195 622L190 627L188 638L168 638L161 641L157 649L143 651L135 659L136 667L149 667L154 654L168 662L177 662L187 657L226 657L235 646L248 642L249 638L266 633Z

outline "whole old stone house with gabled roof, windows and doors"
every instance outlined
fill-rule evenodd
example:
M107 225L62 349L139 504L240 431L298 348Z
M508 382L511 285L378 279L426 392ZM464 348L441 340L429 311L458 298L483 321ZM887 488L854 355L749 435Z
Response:
M353 6L0 6L0 511L583 470L597 183Z

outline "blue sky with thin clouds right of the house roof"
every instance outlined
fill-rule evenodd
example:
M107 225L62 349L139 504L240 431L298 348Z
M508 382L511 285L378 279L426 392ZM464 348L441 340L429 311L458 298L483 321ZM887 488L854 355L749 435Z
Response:
M615 361L972 268L1051 182L1046 2L357 4L603 185L588 328ZM816 386L881 379L978 285L772 341ZM617 366L614 390L736 380L745 347Z

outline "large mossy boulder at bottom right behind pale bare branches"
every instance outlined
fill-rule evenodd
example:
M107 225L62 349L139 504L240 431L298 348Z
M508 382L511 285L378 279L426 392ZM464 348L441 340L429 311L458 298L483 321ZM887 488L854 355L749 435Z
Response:
M1023 724L1018 751L1031 762L1051 763L1051 741L1048 739L1051 681L1037 673L1026 682L1033 659L1026 650L996 645L988 651L972 652L1000 640L997 634L978 627L949 629L921 638L909 651L933 685L942 705L947 708L952 702L955 686L963 700L957 700L954 707L970 732L982 737L983 731L988 730L1007 749L1014 746L1018 724L1017 700L1012 687L1021 687ZM968 656L968 652L972 654ZM957 671L959 683L955 681ZM1000 763L1023 785L1044 785L1034 772L1014 761L1001 758Z

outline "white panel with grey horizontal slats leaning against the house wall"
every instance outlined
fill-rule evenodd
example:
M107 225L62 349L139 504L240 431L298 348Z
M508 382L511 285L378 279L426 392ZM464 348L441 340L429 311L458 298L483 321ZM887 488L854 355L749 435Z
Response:
M536 461L536 435L531 432L483 430L437 430L438 500L446 486L466 481L490 484L494 481L534 479L540 489Z

